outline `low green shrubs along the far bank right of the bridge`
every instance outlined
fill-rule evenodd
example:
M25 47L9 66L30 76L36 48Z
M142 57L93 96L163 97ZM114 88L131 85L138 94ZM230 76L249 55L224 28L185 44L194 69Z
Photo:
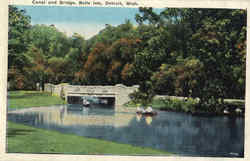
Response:
M130 101L125 104L126 107L136 108L148 106L155 110L171 111L171 112L185 112L193 115L231 115L231 116L244 116L245 102L243 100L228 100L224 101L223 106L216 108L200 108L199 100L193 98L154 98L150 104L143 106L143 104ZM210 110L210 111L209 111Z

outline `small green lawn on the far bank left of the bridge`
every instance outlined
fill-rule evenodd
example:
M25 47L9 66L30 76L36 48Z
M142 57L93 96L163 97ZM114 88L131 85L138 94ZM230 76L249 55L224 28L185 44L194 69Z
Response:
M64 104L64 100L50 93L39 91L9 91L9 108L26 108Z

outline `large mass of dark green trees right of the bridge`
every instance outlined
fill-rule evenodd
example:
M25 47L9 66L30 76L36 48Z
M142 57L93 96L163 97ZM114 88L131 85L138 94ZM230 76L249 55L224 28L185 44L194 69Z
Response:
M136 20L138 28L154 30L141 36L144 49L136 54L134 71L141 80L153 76L163 85L172 79L175 83L164 86L170 91L174 87L178 95L199 97L201 106L220 106L226 97L244 95L245 10L167 8L156 14L140 8ZM167 69L155 72L162 64ZM193 85L200 88L190 93Z

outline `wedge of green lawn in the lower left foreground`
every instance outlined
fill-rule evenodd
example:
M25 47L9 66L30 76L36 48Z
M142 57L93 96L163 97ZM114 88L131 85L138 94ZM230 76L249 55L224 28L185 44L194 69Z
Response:
M62 134L12 122L8 122L7 131L7 150L10 153L170 155L167 152L151 148Z

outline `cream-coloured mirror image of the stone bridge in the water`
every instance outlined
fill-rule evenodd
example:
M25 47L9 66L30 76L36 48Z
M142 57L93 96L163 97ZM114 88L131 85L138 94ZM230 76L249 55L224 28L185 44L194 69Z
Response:
M25 108L15 111L9 111L8 114L22 114L25 117L25 113L37 114L37 118L34 121L42 122L43 124L63 125L63 126L112 126L112 127L126 127L130 124L131 120L135 118L135 111L126 111L126 107L123 109L117 109L116 112L109 112L107 115L88 114L86 111L70 112L66 106L57 107L35 107ZM85 110L89 110L86 108ZM121 112L119 112L122 110ZM128 109L129 110L129 109ZM125 112L124 112L125 111ZM86 112L86 113L85 113Z

